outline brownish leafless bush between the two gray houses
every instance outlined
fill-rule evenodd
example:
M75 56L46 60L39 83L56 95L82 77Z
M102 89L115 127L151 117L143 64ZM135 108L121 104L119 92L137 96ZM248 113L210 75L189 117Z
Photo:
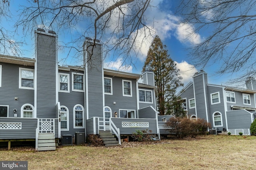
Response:
M210 123L200 118L190 120L188 118L178 117L176 119L172 117L166 124L172 127L170 132L176 134L176 137L179 139L184 137L195 138L197 135L205 135L208 128L211 128Z

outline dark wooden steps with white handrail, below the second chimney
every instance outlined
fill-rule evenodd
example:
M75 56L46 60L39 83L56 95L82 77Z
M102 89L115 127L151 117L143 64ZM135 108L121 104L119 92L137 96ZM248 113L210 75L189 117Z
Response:
M110 131L99 131L100 138L103 140L105 147L120 146L116 138Z

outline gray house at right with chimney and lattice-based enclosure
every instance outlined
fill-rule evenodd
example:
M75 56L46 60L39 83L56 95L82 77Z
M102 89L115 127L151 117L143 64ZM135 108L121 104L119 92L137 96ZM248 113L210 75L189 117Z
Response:
M218 133L250 135L250 125L256 118L256 80L248 78L246 88L208 84L203 70L194 74L178 93L188 118L202 118Z

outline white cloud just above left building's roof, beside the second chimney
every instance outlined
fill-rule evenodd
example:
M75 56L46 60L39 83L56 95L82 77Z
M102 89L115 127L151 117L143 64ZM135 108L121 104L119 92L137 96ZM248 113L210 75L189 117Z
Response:
M132 72L132 66L130 64L124 64L123 58L117 59L116 61L104 62L104 68Z

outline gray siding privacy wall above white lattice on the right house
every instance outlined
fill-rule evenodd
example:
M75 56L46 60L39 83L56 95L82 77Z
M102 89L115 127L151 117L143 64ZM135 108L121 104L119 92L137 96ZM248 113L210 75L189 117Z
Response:
M251 113L244 109L227 111L228 129L249 129Z

